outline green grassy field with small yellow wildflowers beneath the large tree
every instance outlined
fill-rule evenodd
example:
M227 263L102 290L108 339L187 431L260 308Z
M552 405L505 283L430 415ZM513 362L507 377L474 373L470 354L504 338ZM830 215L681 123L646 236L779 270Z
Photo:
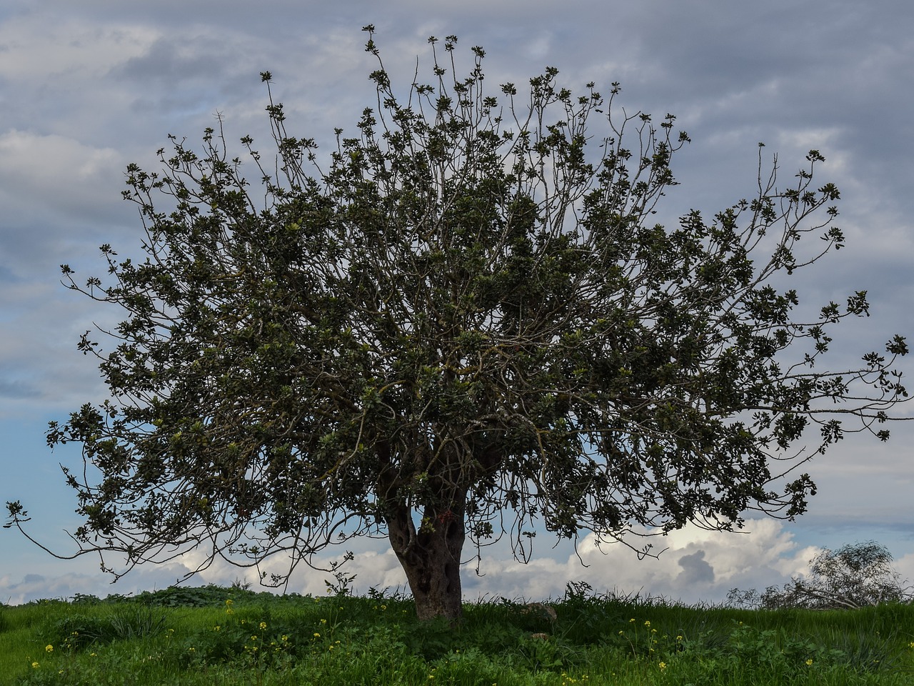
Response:
M167 589L0 606L9 684L914 684L914 606L688 607L590 595L465 606Z

